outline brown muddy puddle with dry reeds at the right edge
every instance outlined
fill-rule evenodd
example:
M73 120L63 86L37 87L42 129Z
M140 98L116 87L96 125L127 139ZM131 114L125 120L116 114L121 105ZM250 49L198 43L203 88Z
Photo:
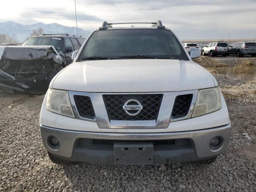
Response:
M223 66L207 67L208 70L216 70L218 74L240 80L256 80L256 66Z

